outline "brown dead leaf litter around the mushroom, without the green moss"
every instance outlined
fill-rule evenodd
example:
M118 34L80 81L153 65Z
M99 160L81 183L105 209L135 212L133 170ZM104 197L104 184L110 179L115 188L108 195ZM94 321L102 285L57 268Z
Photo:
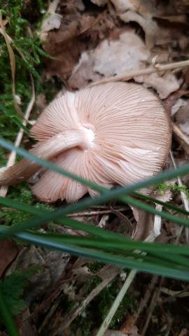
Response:
M47 13L48 15L41 26L41 39L45 52L51 58L44 62L43 76L46 80L56 76L68 90L80 89L89 83L95 83L111 76L124 76L128 71L140 71L149 66L158 69L158 64L181 62L188 59L189 6L187 1L54 0L50 3ZM172 114L172 121L180 131L176 133L176 128L174 129L173 125L176 137L176 140L173 141L176 165L186 162L189 155L188 78L187 68L175 69L174 71L167 69L132 77L135 82L153 90L162 99L167 111ZM39 95L36 109L41 111L44 104L45 97ZM171 164L167 162L167 165ZM175 184L175 181L173 183ZM189 178L186 178L184 183L189 186ZM178 194L175 195L169 188L165 190L163 195L156 190L153 197L166 202L173 199L172 202L181 206L181 197ZM104 210L105 214L107 210L110 210L108 206ZM92 223L99 223L102 219L102 209L97 209L98 211L99 214L90 216ZM145 239L153 230L154 219L137 209L132 209L132 211L132 218L130 218L130 210L128 209L125 211L113 210L111 214L104 215L105 227L109 226L111 230L117 230L116 223L124 222L127 231L132 235L132 228L136 228L137 225L135 239ZM88 223L85 216L84 221ZM144 228L146 229L144 230ZM170 238L171 231L172 227L169 223L162 223L162 241L165 238L172 239L173 242L176 240L174 235ZM75 234L77 235L78 232ZM186 244L183 237L180 241L182 244ZM6 246L11 245L12 248L11 242L5 241L3 244L5 244L3 245L4 253ZM2 253L3 249L0 250L2 259L4 258L1 274L18 253L18 247L13 247L7 260L5 254ZM120 270L107 265L95 272L90 269L88 260L80 261L77 264L74 258L68 258L68 262L66 260L66 265L63 267L61 253L49 256L47 251L43 251L43 249L40 251L39 248L33 247L23 248L21 254L13 262L12 268L23 270L27 269L29 265L38 264L43 265L45 269L47 283L43 281L42 274L38 279L34 279L34 283L32 283L34 289L32 286L28 287L29 303L35 300L36 304L33 314L29 314L29 319L35 321L36 329L43 330L45 328L45 332L48 332L49 335L62 335L62 330L66 332L65 335L83 335L82 327L79 324L76 333L74 320L76 319L76 323L78 323L78 314L81 314L81 317L82 314L83 316L87 314L87 318L91 318L91 321L90 331L86 335L93 335L94 330L97 332L99 325L92 321L91 307L88 311L85 310L86 302L90 304L96 296L98 297L102 288L111 286L110 283L113 279L117 279L116 286L121 288L120 275L118 275ZM56 272L57 276L53 278L52 274L55 275ZM95 277L100 282L97 281L98 284L96 283L93 289L88 292L88 283L92 279L96 279ZM141 307L142 297L145 297L148 286L151 286L151 277L139 274L136 282L130 287L129 293L132 300L137 302L137 307ZM160 309L160 313L156 314L155 310L151 310L151 319L148 319L144 306L136 318L134 311L126 307L124 318L121 321L123 324L121 325L118 321L116 324L116 328L118 329L119 326L120 329L113 331L110 328L104 335L165 335L165 332L166 335L168 335L167 332L169 335L176 335L176 332L178 335L187 335L189 332L186 314L187 302L182 299L180 301L183 316L180 314L177 318L178 321L183 318L185 328L179 328L178 321L174 322L173 319L169 319L169 315L174 314L177 301L173 304L174 307L170 312L167 304L162 302L164 294L161 292L156 295L158 286L167 287L179 293L185 284L167 281L167 279L160 281L155 279L146 305L150 304L151 307ZM69 304L66 301L67 297L79 298L78 302L74 302L70 315L62 309L62 302ZM97 304L96 309L98 310L100 301L97 300L95 304ZM164 311L163 314L161 309ZM84 312L82 313L82 311ZM41 325L44 316L46 316L45 321ZM144 323L141 323L142 319L144 319ZM73 327L71 326L72 321ZM85 321L85 318L82 321ZM130 323L130 321L132 322ZM127 328L123 327L124 323ZM144 329L141 328L142 324L145 325L147 331L144 332ZM73 332L75 333L73 334Z

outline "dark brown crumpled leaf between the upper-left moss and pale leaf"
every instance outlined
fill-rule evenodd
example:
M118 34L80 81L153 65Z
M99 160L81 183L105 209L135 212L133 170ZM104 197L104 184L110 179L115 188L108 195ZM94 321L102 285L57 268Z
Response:
M57 14L62 16L59 29L48 31L45 51L55 59L48 59L46 77L58 76L63 81L71 75L73 66L85 50L92 50L98 41L109 35L115 18L102 10L81 11L69 1L59 1Z

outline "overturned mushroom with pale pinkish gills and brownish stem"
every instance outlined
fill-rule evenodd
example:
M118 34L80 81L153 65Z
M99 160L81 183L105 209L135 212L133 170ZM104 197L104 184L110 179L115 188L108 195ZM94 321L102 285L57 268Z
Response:
M171 144L158 97L133 83L106 83L55 99L31 128L31 153L104 186L128 185L161 172ZM40 167L22 159L0 173L1 185L29 179ZM43 202L77 201L92 188L45 169L32 191ZM149 193L149 190L143 190Z

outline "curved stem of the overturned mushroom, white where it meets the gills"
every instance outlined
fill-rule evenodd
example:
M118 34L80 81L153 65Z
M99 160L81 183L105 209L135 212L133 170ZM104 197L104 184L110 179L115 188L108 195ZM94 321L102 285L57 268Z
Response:
M53 137L50 137L50 139L37 144L29 152L38 156L38 158L43 158L43 160L50 160L56 155L75 146L88 148L91 146L91 139L87 131L87 129L83 128L55 134ZM3 169L0 172L0 185L13 186L14 184L26 181L34 175L40 167L41 166L36 162L31 162L24 158L12 167Z

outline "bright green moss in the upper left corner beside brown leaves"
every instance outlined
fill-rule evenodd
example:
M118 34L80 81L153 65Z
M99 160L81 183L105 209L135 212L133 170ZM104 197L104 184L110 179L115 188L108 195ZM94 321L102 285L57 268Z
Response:
M38 6L36 11L38 22L41 24L43 15L41 8L45 1L35 1L34 8ZM20 101L20 107L25 112L27 104L31 99L31 78L30 73L34 78L34 86L36 94L41 92L41 73L43 56L47 56L41 48L41 41L38 38L38 33L35 27L32 27L31 22L26 20L25 16L25 1L23 0L8 0L2 1L1 14L3 22L6 22L6 34L12 39L11 47L15 55L15 92ZM10 66L10 57L4 37L0 34L0 87L1 87L1 104L0 104L0 134L1 137L13 141L20 128L21 118L15 111L13 102L13 79ZM27 60L20 56L18 49ZM2 151L1 151L2 152ZM4 152L3 152L4 153ZM4 162L3 153L1 161ZM1 163L2 163L1 162Z

